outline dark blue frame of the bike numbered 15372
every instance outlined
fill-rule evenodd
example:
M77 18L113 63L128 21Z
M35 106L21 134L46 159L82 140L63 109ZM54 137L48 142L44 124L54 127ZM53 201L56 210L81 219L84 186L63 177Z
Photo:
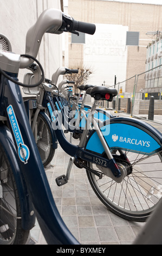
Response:
M48 103L47 103L48 102ZM63 134L62 131L62 113L61 110L57 111L54 103L53 103L53 98L49 95L46 94L45 98L44 98L44 103L46 105L50 105L50 109L51 111L49 111L49 114L51 115L51 121L52 121L52 127L56 133L56 137L61 145L61 147L63 148L63 150L70 156L74 157L73 158L73 162L77 159L82 159L82 160L86 160L86 161L90 161L90 162L94 162L96 163L96 159L98 159L98 155L93 152L88 152L84 150L84 145L86 143L86 138L87 138L87 134L89 132L89 129L91 127L91 124L93 124L94 128L96 129L96 132L98 132L98 135L100 137L100 141L103 145L103 147L105 148L106 154L108 159L105 159L104 157L100 157L100 160L103 164L104 167L109 167L111 168L113 175L114 176L120 176L120 170L118 169L118 167L116 168L114 159L109 151L108 145L105 143L105 139L102 136L102 133L99 129L98 123L96 123L96 121L94 120L94 118L92 117L92 123L90 121L90 123L88 124L88 126L86 127L86 129L83 130L82 133L82 137L81 137L81 141L79 143L79 146L75 146L72 143L69 143L66 139L66 137ZM43 105L45 107L45 105ZM93 109L92 109L93 111ZM55 118L53 118L55 117ZM74 126L71 126L71 129L74 130ZM85 166L86 168L87 166ZM87 167L88 168L88 167ZM70 170L68 170L69 172ZM67 176L69 176L69 174L67 174Z

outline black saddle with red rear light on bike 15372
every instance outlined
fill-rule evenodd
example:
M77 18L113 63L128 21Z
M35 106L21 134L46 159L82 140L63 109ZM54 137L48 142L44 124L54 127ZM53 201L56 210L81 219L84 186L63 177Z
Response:
M95 86L90 91L90 96L95 100L107 100L112 101L113 97L118 94L118 91L114 88L107 88L104 86Z

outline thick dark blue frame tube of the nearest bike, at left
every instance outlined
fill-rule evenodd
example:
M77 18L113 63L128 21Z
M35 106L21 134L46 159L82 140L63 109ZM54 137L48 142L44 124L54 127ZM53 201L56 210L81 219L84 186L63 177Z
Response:
M37 221L48 244L79 244L64 224L54 202L46 173L38 153L33 133L25 111L20 88L17 84L4 81L4 111L8 116L12 136L17 147L19 163ZM15 115L14 115L15 113ZM13 119L12 119L13 114ZM15 126L12 124L15 121ZM17 129L17 135L14 130ZM21 143L18 145L18 138Z

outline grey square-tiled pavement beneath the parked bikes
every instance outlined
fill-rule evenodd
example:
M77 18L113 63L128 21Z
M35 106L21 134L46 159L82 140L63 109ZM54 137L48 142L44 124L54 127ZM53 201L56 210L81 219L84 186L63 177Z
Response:
M69 156L59 147L54 167L46 173L57 208L72 234L84 245L131 244L144 223L126 221L108 211L90 187L85 169L73 166L68 183L62 187L55 184L57 176L66 174L68 161ZM47 244L37 223L31 239L36 245Z

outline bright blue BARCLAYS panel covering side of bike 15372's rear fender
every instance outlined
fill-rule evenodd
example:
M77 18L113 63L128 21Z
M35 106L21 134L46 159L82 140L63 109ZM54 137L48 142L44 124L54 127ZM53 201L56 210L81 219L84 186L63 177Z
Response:
M106 126L110 127L109 133L104 134L109 148L121 148L148 155L160 148L155 139L135 126L119 123ZM86 149L99 154L105 151L96 132L90 137Z

